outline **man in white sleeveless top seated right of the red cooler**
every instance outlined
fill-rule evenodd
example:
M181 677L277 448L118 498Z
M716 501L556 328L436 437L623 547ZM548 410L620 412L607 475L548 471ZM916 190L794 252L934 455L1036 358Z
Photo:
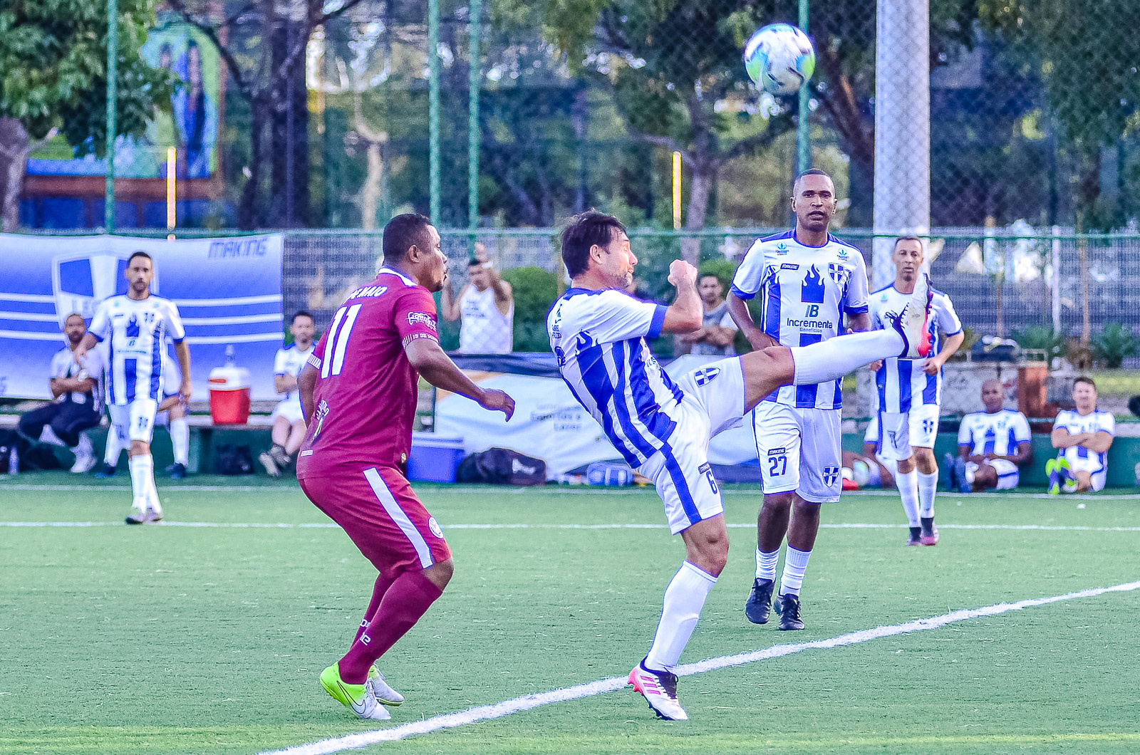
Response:
M278 393L285 393L285 398L274 407L274 447L258 456L270 477L282 476L282 470L290 465L293 454L301 447L306 432L296 376L312 354L312 336L317 332L312 315L304 310L293 315L288 332L293 343L278 349L274 358L274 388Z

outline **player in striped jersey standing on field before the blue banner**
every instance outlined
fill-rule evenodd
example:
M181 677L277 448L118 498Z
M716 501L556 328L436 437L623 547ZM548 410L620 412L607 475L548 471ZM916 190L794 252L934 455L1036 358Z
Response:
M162 399L162 351L165 338L174 342L182 370L179 395L190 396L190 350L174 302L150 293L154 262L146 252L127 260L127 294L101 301L91 318L91 330L75 348L79 362L100 341L108 341L107 405L111 424L124 446L130 444L133 500L128 525L162 520L162 505L154 485L150 436Z

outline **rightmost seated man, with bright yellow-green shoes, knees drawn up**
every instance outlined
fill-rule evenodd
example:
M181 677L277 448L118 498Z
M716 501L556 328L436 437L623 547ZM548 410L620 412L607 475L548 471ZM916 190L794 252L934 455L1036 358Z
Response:
M1089 493L1105 488L1108 448L1113 445L1116 420L1097 408L1097 383L1092 378L1073 381L1075 411L1061 411L1053 420L1050 440L1060 449L1045 463L1049 495Z

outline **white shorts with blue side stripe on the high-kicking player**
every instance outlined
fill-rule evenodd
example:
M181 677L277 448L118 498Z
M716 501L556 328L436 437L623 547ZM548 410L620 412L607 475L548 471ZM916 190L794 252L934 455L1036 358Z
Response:
M677 427L666 447L637 468L653 480L674 535L724 513L709 438L743 416L744 372L739 358L720 359L682 376L677 387L685 395L673 415Z

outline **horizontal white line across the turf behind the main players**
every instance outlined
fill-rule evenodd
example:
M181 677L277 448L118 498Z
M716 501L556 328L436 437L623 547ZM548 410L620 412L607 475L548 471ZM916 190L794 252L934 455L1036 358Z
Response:
M120 527L121 521L0 521L0 527ZM331 521L271 522L271 521L161 521L149 527L190 527L217 529L339 529ZM730 529L752 529L754 522L730 522ZM820 529L906 529L906 525L872 522L822 523ZM447 525L445 529L662 529L667 525L604 523L604 525ZM1140 527L1083 527L1080 525L938 525L938 529L1010 529L1074 533L1140 533Z

